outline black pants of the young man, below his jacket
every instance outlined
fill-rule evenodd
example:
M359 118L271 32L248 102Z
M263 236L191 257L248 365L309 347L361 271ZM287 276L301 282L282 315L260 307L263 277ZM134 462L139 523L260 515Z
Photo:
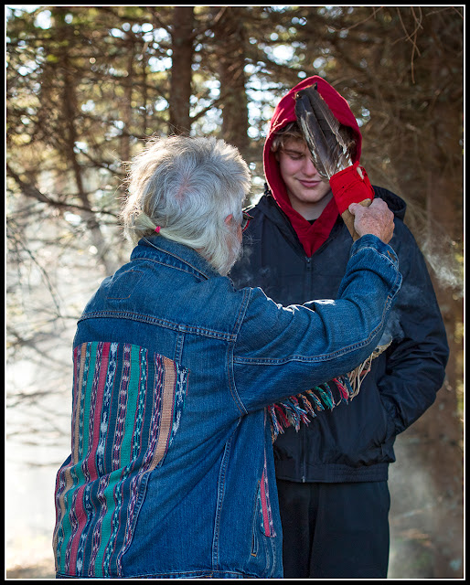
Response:
M277 482L284 579L386 579L387 482Z

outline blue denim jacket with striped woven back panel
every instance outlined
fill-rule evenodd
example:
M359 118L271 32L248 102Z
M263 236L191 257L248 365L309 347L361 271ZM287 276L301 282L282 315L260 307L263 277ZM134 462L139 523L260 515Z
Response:
M265 407L366 359L400 286L375 236L353 244L338 300L289 307L142 239L74 339L57 576L282 578Z

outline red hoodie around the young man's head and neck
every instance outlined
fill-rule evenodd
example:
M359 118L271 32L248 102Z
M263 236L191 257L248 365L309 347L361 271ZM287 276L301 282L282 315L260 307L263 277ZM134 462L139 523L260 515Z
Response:
M358 122L349 108L347 101L324 79L314 75L298 83L290 90L276 106L272 115L270 129L264 151L262 154L264 163L264 176L271 189L272 197L277 201L279 207L291 220L292 226L297 233L305 254L310 257L326 241L338 216L335 200L332 198L323 210L321 216L316 219L313 225L304 219L300 213L294 210L287 195L287 191L279 171L279 165L275 155L271 152L273 134L281 130L289 122L295 122L295 93L298 90L310 87L317 83L317 89L322 98L328 104L330 110L335 114L338 122L352 128L356 136L357 149L353 163L359 161L362 145L362 135L359 131Z

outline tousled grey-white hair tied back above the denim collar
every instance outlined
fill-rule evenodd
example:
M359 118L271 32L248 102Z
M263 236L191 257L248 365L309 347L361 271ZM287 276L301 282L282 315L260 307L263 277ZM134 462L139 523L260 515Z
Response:
M154 234L187 245L227 273L240 250L241 206L251 174L239 151L214 137L152 138L134 157L120 218L136 243ZM225 222L230 214L233 221Z

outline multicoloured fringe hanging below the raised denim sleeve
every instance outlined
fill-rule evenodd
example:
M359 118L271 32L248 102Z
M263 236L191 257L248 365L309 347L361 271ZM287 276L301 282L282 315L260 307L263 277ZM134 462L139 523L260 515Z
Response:
M358 396L360 385L370 371L372 360L385 351L390 343L391 339L387 344L377 347L362 364L346 376L333 378L333 382L335 382L333 388L325 382L301 394L270 405L268 412L271 415L272 442L277 439L279 433L283 433L283 430L288 427L292 426L295 431L299 431L302 422L305 424L310 422L309 415L314 419L317 411L333 410L341 402L349 402Z

